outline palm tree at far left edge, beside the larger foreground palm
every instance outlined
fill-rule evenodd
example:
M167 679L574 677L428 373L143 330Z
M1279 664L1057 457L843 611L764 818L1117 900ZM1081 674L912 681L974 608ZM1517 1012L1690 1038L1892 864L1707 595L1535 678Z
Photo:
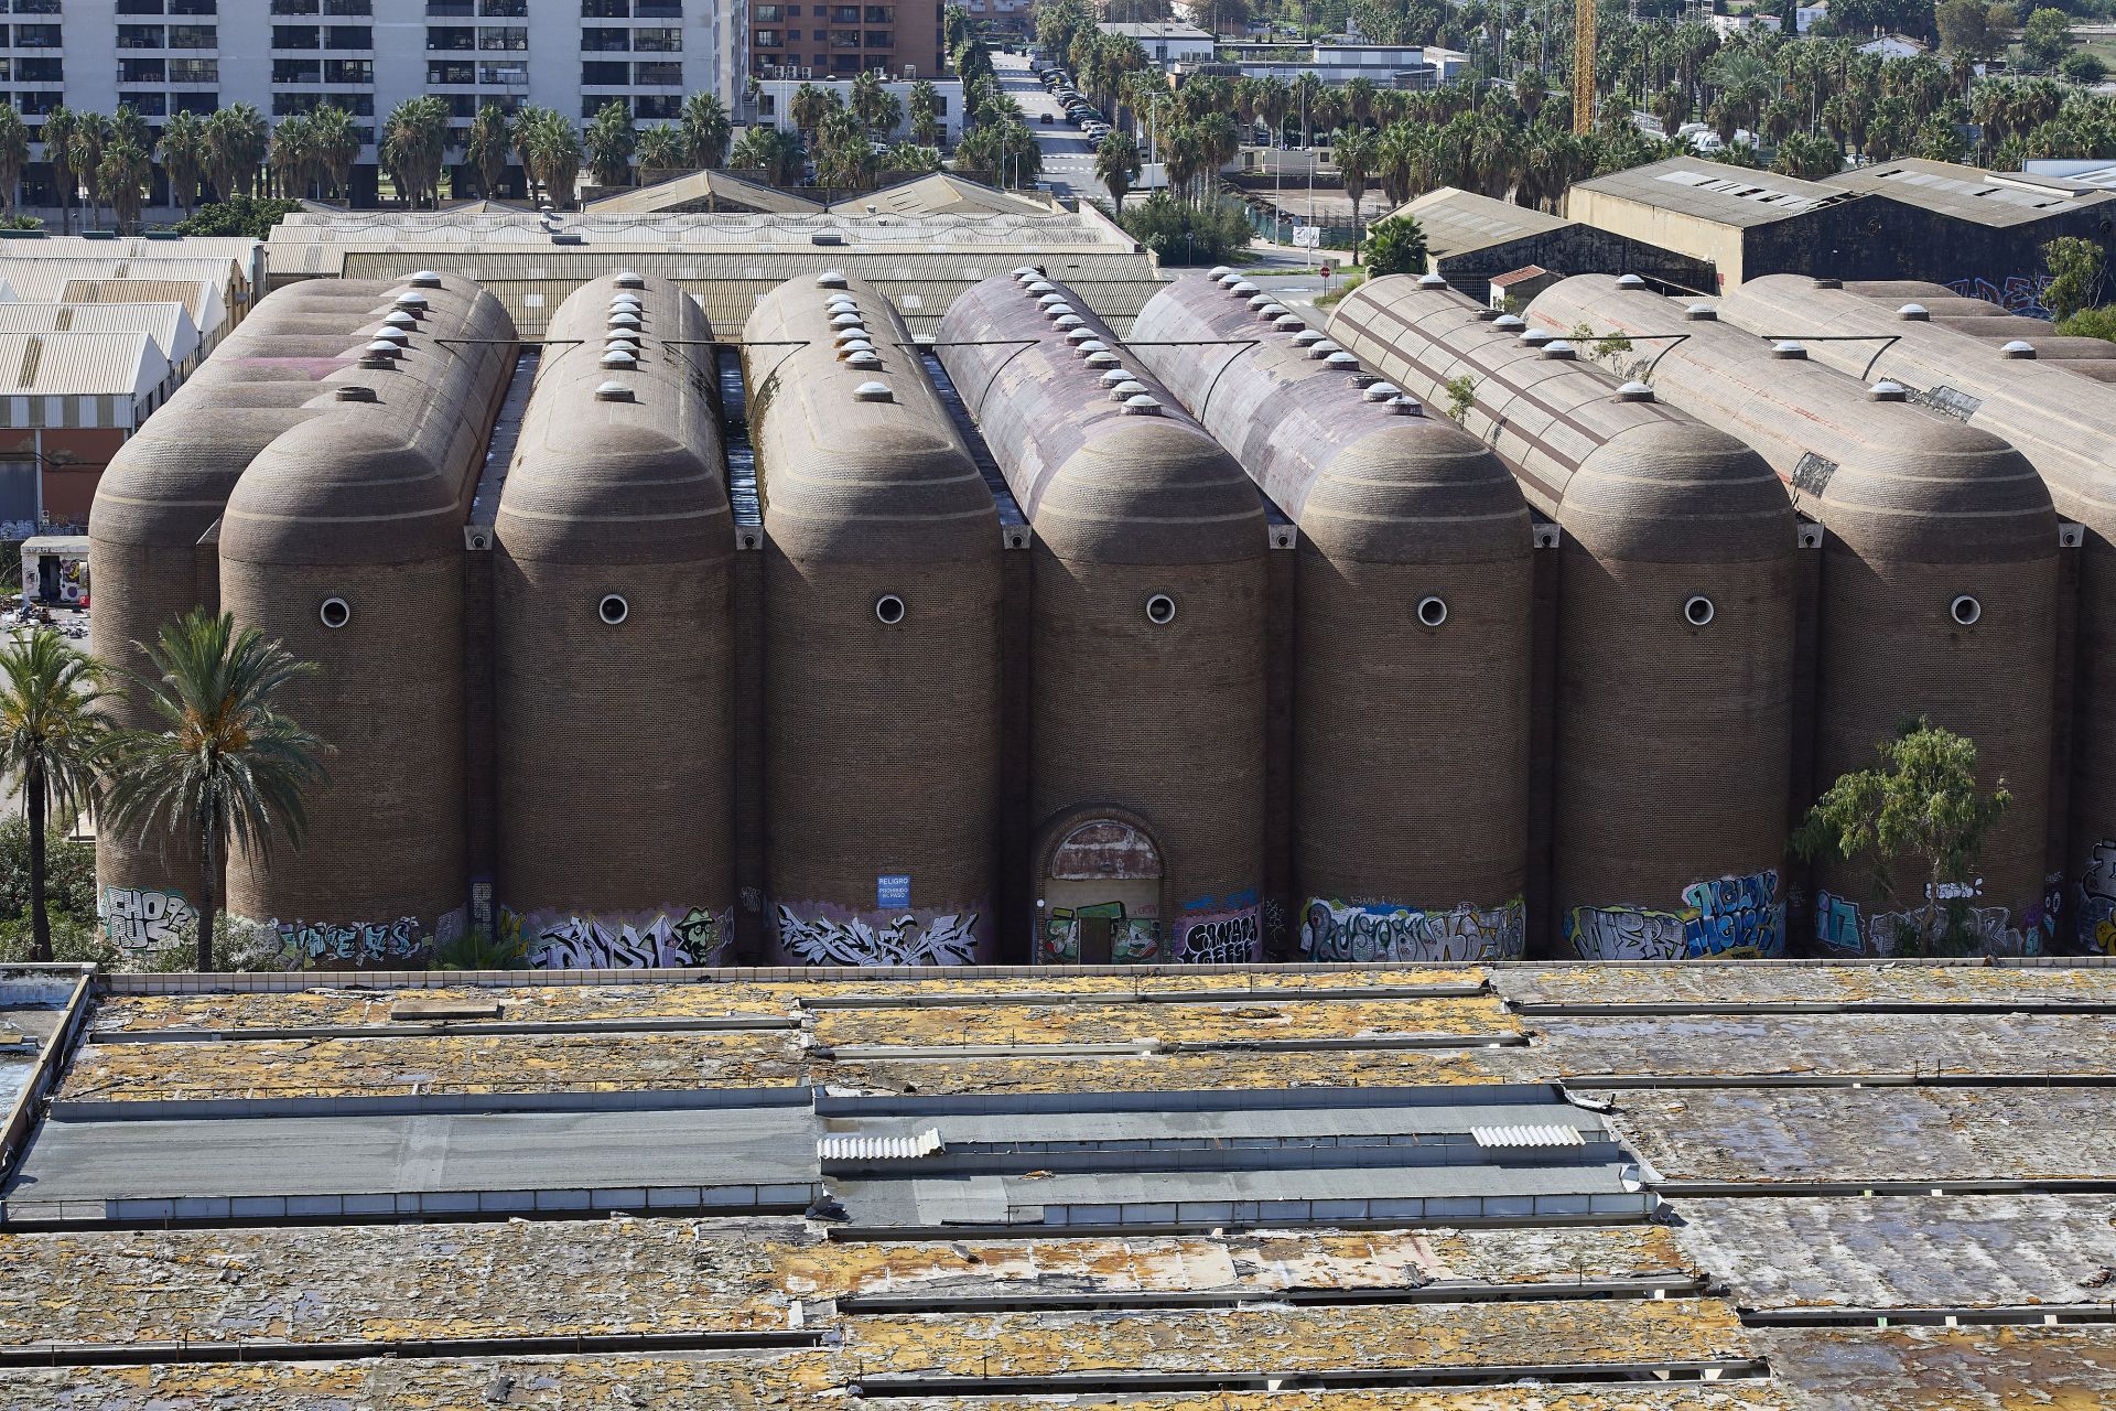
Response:
M44 829L51 804L59 812L95 798L95 772L108 743L108 721L95 709L106 668L74 652L51 628L0 647L0 768L15 781L30 817L32 960L51 960L51 916L44 912Z

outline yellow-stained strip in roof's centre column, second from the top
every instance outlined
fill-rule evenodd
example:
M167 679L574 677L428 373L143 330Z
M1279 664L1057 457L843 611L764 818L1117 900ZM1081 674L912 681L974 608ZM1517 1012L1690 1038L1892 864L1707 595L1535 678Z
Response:
M1244 1001L1236 1005L944 1005L819 1009L823 1047L1024 1043L1244 1045L1314 1041L1515 1039L1521 1022L1494 996L1388 1001Z

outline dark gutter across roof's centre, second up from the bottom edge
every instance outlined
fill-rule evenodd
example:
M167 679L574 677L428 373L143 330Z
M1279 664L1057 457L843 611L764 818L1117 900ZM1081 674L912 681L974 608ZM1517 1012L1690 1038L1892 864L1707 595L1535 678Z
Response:
M1547 1303L1551 1299L1667 1299L1705 1293L1705 1280L1670 1278L1604 1278L1576 1284L1418 1284L1416 1288L1229 1288L1227 1293L1037 1293L1037 1295L946 1295L946 1293L868 1293L836 1301L840 1314L995 1314L995 1312L1100 1312L1157 1307L1242 1307L1253 1303ZM2112 1314L2116 1316L2116 1314Z

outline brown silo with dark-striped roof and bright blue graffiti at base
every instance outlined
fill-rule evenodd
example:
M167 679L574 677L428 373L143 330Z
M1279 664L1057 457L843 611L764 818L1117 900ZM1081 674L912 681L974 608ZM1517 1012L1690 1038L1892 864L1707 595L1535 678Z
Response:
M1777 476L1437 275L1358 288L1329 336L1458 406L1557 523L1564 950L1784 954L1796 527Z

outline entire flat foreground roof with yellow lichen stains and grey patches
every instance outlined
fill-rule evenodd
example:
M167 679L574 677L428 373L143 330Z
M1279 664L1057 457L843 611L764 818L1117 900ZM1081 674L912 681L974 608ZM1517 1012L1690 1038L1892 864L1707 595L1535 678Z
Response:
M25 1411L2116 1403L2116 967L0 971Z

